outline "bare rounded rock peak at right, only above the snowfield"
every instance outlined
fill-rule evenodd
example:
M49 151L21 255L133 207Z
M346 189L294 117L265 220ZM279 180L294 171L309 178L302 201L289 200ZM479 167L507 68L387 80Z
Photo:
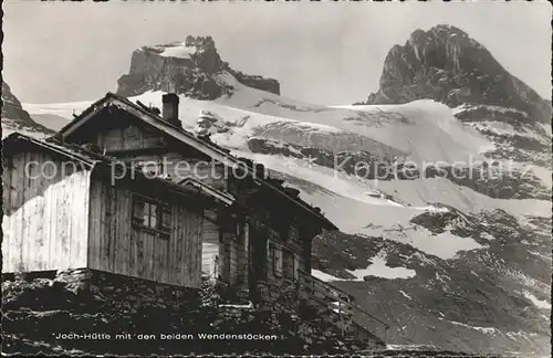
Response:
M380 86L365 104L403 104L435 99L515 108L530 119L549 123L551 103L511 75L480 43L455 27L416 30L405 45L388 52Z

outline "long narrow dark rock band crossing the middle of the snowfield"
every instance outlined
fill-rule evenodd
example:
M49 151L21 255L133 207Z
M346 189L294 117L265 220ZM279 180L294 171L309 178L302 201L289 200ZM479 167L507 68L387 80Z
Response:
M525 137L523 138L525 139ZM344 172L368 180L446 178L456 185L470 188L490 198L541 200L549 200L551 198L551 188L544 186L540 181L540 178L532 172L523 172L513 168L509 172L504 172L504 169L493 160L493 157L489 161L471 167L426 166L422 171L403 164L394 166L392 160L380 159L378 156L374 156L366 150L331 151L307 145L282 144L261 137L249 138L248 147L255 154L290 158L290 162L294 162L298 166L305 166L305 168L309 168L310 165L317 165L334 169L336 168L336 164L338 164ZM502 159L509 158L518 157L511 156Z

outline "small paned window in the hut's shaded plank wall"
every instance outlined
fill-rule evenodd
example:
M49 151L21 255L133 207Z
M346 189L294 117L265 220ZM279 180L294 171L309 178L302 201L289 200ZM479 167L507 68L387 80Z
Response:
M170 209L161 202L142 196L133 199L133 222L139 227L170 231Z

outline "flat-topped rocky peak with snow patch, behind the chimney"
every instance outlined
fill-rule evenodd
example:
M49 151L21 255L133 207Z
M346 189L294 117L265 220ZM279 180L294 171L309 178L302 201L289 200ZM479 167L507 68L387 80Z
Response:
M165 52L168 49L177 51ZM143 46L131 59L131 70L118 81L117 94L136 96L146 91L185 94L198 99L215 99L232 88L217 78L223 71L253 88L280 94L276 80L250 76L221 60L211 36L187 36L184 43Z

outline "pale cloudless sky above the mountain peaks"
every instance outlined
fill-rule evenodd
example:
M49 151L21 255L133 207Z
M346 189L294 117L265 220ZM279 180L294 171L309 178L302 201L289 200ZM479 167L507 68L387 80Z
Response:
M4 0L3 76L23 103L116 91L142 45L211 35L223 61L273 77L286 97L349 104L378 88L384 59L416 29L447 23L551 97L546 2L40 2Z

